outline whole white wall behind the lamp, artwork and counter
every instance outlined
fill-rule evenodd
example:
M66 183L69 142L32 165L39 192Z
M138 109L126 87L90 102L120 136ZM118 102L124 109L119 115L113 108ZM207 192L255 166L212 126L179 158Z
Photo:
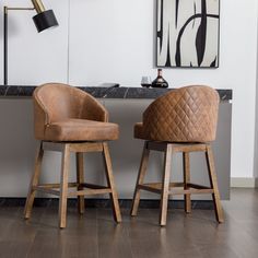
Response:
M3 2L30 3L5 0ZM44 2L59 19L60 27L52 32L36 35L31 14L10 13L10 83L38 84L69 78L74 85L119 82L139 86L142 75L155 77L155 0L71 0L69 34L69 0ZM221 0L220 36L219 69L166 69L164 77L172 87L204 83L233 89L232 176L253 177L257 0ZM40 46L43 52L37 55L33 46Z

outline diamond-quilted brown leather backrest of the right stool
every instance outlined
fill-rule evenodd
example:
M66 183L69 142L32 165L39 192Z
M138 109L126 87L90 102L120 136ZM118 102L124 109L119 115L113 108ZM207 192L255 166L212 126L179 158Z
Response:
M143 113L150 139L172 142L215 140L220 97L203 85L172 90L155 99Z

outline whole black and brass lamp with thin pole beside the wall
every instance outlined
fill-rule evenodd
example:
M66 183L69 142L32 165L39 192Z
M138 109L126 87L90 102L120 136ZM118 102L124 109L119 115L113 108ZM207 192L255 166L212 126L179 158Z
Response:
M57 19L52 10L45 10L42 0L32 0L33 8L9 8L3 7L3 84L8 85L8 12L11 10L33 11L37 14L33 16L33 21L40 33L47 28L58 26Z

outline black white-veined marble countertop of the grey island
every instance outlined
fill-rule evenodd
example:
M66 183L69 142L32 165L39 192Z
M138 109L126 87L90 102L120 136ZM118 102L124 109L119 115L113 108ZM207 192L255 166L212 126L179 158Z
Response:
M0 97L31 97L36 86L0 85ZM173 89L79 86L96 98L156 98ZM216 90L221 101L232 99L232 90Z

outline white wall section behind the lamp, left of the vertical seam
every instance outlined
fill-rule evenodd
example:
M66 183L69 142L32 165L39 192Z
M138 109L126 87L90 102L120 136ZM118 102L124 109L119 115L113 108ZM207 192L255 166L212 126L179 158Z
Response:
M32 17L35 11L9 11L9 84L40 84L49 81L67 82L68 70L68 0L44 0L46 9L54 9L60 26L37 33ZM1 0L3 5L32 7L30 0ZM2 49L2 22L0 38ZM2 60L2 50L0 51ZM2 77L2 61L0 63ZM2 79L1 79L2 81Z

